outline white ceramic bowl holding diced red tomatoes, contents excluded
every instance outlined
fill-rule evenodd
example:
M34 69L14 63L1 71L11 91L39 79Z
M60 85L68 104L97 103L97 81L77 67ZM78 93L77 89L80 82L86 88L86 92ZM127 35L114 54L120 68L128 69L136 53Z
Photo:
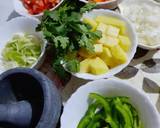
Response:
M64 0L60 0L60 2L53 8L51 8L50 10L53 11L55 10L57 7L59 7L61 5L61 3L63 2ZM28 10L24 7L23 3L21 2L21 0L13 0L13 5L14 5L14 9L15 11L22 15L22 16L26 16L26 17L36 17L36 18L41 18L42 15L43 15L43 12L42 13L39 13L39 14L36 14L36 15L31 15L28 13Z

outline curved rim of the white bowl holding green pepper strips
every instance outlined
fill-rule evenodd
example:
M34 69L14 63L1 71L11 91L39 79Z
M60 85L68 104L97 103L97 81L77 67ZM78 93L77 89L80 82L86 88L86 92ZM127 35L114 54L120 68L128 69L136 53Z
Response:
M95 83L98 83L99 81L100 81L100 82L104 82L104 83L108 83L108 82L119 83L119 84L117 85L118 87L119 87L120 84L121 84L121 86L123 86L123 87L128 87L128 88L130 88L132 91L137 92L141 97L143 97L144 99L146 99L146 102L148 102L148 107L150 107L150 109L152 109L152 111L154 112L154 115L155 115L155 117L156 117L156 119L157 119L157 123L158 123L158 125L160 126L160 115L159 115L158 110L156 109L155 105L151 102L149 96L148 96L143 90L137 89L137 88L135 88L134 86L132 86L132 84L131 84L130 82L128 82L128 81L123 81L123 80L121 80L121 79L119 79L119 78L116 78L116 77L114 77L114 78L109 78L109 79L99 79L99 80L95 80L95 81L90 81L90 82L88 82L88 83L86 83L86 84L83 84L83 85L80 86L74 93L72 93L72 95L71 95L70 98L67 100L66 104L64 105L63 113L62 113L61 118L60 118L61 126L62 126L62 123L64 122L64 117L65 117L64 114L65 114L65 111L68 110L66 106L68 106L68 104L69 104L69 106L70 106L71 104L73 104L73 102L71 102L72 99L75 99L75 97L77 97L78 94L82 93L83 90L87 90L87 89L89 89L89 88L96 88L96 89L94 89L95 91L98 90L99 85L95 85ZM94 85L93 85L93 84L94 84ZM122 85L122 84L123 84L123 85ZM108 85L108 86L111 86L111 85ZM107 88L108 86L106 86L106 88ZM104 86L103 86L103 87L104 87ZM87 93L88 93L88 92L87 92Z

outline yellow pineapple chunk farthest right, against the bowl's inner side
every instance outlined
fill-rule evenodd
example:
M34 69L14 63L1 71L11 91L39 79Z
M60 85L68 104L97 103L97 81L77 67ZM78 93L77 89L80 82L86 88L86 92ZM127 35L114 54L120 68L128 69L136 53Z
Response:
M131 41L128 37L126 36L119 36L119 45L121 46L121 48L125 51L128 52L130 47L131 47Z

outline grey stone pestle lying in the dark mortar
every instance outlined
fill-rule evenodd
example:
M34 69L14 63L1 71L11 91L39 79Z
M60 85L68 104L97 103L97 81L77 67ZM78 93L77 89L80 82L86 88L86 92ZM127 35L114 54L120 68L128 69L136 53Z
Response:
M32 107L27 101L0 104L0 122L27 127L32 118Z

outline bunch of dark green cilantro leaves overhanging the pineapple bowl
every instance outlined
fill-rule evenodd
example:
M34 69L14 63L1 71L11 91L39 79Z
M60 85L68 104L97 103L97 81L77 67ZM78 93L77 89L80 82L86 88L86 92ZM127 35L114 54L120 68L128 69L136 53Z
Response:
M71 72L79 71L77 52L86 48L93 52L94 43L100 39L99 31L91 32L88 24L81 22L82 14L95 7L94 3L83 4L79 0L64 0L63 4L54 11L45 11L37 31L42 31L48 42L52 43L55 59L53 68L56 73L64 77L65 71L61 61ZM68 52L75 52L74 57L66 57ZM66 59L67 58L67 59Z

